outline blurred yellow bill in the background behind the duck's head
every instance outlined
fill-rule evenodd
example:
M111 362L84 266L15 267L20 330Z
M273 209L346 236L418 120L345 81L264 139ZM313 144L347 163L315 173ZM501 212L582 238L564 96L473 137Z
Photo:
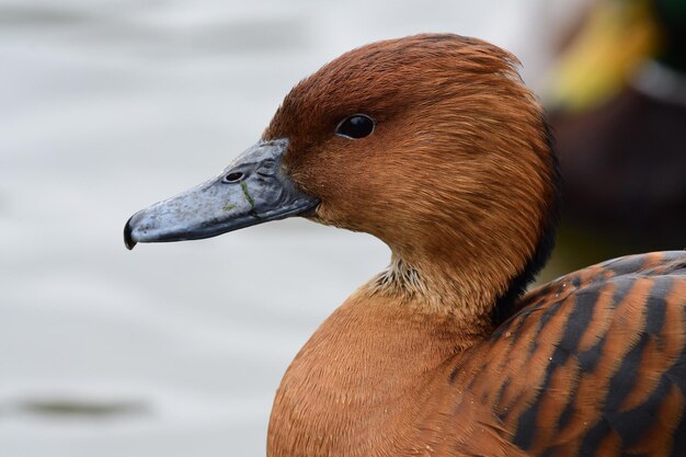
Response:
M601 0L554 66L546 103L582 112L610 99L658 49L658 27L644 0Z

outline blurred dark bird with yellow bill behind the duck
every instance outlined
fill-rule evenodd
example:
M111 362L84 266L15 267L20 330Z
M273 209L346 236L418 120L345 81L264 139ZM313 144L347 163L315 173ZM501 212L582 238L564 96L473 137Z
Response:
M598 2L556 71L565 210L553 260L568 261L554 274L685 248L686 1Z

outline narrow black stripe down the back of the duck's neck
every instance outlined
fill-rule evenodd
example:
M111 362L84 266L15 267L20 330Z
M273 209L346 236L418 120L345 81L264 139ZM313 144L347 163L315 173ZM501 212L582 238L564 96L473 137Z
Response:
M545 118L541 118L541 123L546 134L546 142L550 151L548 155L550 160L548 167L550 169L551 181L551 195L550 201L548 202L550 206L547 214L544 215L541 232L531 258L526 263L522 272L510 281L510 286L505 293L495 301L491 316L493 327L498 327L504 322L517 310L517 301L526 290L529 283L534 281L540 269L542 269L546 262L548 262L552 248L554 248L554 235L560 220L560 206L562 201L562 178L560 174L558 156L553 148L552 132Z

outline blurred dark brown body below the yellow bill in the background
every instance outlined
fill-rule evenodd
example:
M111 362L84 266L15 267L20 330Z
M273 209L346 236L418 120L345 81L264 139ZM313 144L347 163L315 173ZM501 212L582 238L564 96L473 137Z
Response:
M569 219L638 250L686 245L686 104L629 87L601 110L551 123Z

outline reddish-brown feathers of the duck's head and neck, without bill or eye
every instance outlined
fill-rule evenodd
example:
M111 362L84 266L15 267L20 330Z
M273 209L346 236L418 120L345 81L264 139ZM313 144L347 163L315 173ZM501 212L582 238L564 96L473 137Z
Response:
M557 171L516 64L479 39L416 35L346 53L284 100L264 137L290 141L285 165L321 199L318 221L391 248L378 293L488 313L525 273L549 230ZM358 113L376 122L371 135L334 135Z

